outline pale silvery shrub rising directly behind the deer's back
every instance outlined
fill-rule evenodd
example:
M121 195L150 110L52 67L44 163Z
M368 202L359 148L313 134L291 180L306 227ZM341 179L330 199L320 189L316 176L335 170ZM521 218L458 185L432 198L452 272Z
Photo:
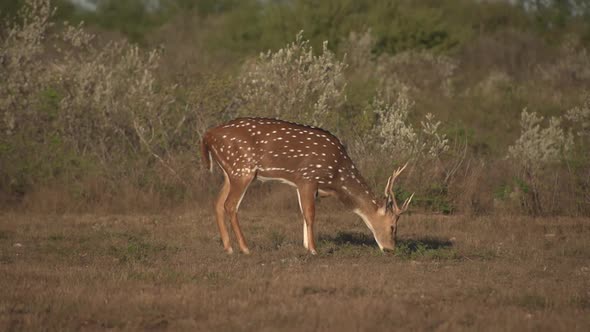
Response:
M241 96L250 115L329 126L345 101L343 70L323 44L314 55L303 32L276 52L262 53L241 75Z

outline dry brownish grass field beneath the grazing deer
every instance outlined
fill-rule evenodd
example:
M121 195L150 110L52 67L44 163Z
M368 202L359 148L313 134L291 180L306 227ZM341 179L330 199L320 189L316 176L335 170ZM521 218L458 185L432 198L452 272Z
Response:
M246 206L245 256L211 212L0 215L0 330L590 330L587 219L414 214L384 255L320 206L312 257Z

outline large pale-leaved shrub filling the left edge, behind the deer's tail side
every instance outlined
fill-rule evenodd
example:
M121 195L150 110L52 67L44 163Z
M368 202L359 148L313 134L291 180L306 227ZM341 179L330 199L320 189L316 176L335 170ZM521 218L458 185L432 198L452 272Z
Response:
M197 132L184 128L196 116L179 106L175 86L159 83L160 52L124 41L99 45L82 26L50 30L53 14L48 0L27 0L4 32L2 190L24 195L60 182L85 197L72 184L99 177L113 191L122 179L177 191L170 185L185 181L172 165L196 150Z

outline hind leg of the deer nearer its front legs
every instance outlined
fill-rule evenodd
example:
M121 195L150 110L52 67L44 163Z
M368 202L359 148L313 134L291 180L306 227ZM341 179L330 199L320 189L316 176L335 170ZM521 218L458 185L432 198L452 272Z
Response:
M238 209L240 208L242 198L244 198L244 194L246 194L246 190L248 189L248 186L250 185L252 180L254 180L254 177L255 175L251 174L230 178L229 193L224 204L225 212L229 214L234 234L236 235L236 238L238 240L238 245L240 246L240 250L242 250L244 254L249 254L250 250L246 245L244 234L242 233L242 229L240 228L240 222L238 220Z

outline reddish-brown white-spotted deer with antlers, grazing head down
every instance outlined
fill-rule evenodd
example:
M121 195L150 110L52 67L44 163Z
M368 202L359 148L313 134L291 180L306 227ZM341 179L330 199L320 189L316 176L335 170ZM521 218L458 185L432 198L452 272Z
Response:
M225 213L243 253L248 246L238 222L238 208L246 189L256 178L278 180L297 188L303 214L303 246L313 255L315 198L318 193L337 196L352 207L381 250L393 250L397 221L408 209L410 196L398 206L393 184L407 166L398 168L387 180L385 199L377 200L346 154L338 138L320 128L266 118L238 118L208 130L201 143L205 164L213 169L213 158L225 182L215 203L217 226L226 252L232 253L225 226Z

